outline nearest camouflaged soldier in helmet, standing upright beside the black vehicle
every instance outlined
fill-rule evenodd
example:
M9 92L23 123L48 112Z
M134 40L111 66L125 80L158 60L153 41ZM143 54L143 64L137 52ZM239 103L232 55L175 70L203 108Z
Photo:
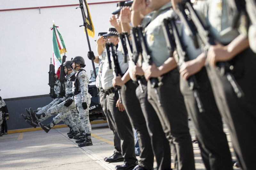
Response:
M85 141L83 143L78 144L78 146L89 146L92 145L91 133L92 127L89 121L89 106L91 104L92 96L88 92L88 83L89 78L85 72L84 68L84 58L81 56L76 56L72 62L72 67L76 71L75 75L73 75L70 79L73 81L72 92L74 94L74 101L76 104L76 108L79 112L81 122L85 127L86 135L82 137Z

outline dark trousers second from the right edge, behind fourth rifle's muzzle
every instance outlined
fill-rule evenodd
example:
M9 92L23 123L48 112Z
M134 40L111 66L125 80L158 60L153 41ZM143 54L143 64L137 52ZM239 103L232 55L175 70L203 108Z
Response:
M180 90L184 96L188 113L191 115L196 137L207 170L232 170L232 159L220 112L214 100L212 88L205 68L195 75L199 85L199 96L204 107L200 113L193 91L188 83L180 78Z

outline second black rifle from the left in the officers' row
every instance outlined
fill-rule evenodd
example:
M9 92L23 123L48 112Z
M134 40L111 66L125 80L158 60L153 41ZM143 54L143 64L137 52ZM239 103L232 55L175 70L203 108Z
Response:
M129 38L128 38L128 33L124 32L122 34L119 34L119 38L123 39L124 42L125 42L125 48L127 49L129 60L132 61L136 65L136 63L138 61L138 57L133 58L134 55L132 53L132 47L131 47L131 44L130 44L130 41L129 41ZM140 91L143 93L144 91L143 91L143 88L142 88L141 76L136 75L136 79L138 80L138 83L139 83L139 86L140 86Z

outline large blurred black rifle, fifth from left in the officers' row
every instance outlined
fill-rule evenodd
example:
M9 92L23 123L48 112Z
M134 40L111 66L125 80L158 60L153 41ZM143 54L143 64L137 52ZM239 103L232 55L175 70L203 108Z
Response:
M199 35L201 41L202 41L202 51L205 53L205 57L207 56L207 52L211 45L215 45L214 38L212 37L210 31L205 28L202 21L196 14L196 11L194 10L192 4L190 1L184 1L182 3L178 4L178 15L182 17L181 20L186 23L186 25L191 25L190 27L187 27L187 29L194 29L196 33ZM185 11L186 12L180 12ZM236 96L238 98L241 98L244 96L244 92L240 88L240 86L237 84L234 75L230 72L232 67L230 67L230 64L228 62L217 62L217 69L220 70L221 76L226 76L229 83L234 89L234 92L236 93Z

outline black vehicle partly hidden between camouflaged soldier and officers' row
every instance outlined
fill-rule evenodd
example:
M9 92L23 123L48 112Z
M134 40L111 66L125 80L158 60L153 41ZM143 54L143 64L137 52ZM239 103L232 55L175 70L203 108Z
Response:
M97 68L95 68L95 70L96 70L96 75L98 75L99 68L97 67ZM89 79L88 92L92 96L91 105L89 107L90 122L94 121L95 119L106 120L104 113L102 113L102 107L99 103L98 91L97 91L97 87L96 87L96 79L95 79L93 71L91 71L91 78Z

